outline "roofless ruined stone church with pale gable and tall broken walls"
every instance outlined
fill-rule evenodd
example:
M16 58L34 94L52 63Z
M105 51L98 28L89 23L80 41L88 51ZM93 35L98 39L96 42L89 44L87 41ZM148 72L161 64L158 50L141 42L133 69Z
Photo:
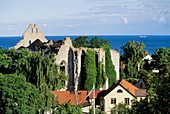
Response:
M63 90L70 90L72 87L75 90L82 89L82 80L84 79L81 75L84 55L87 50L93 50L96 52L96 61L102 62L105 65L105 51L102 48L75 48L72 45L72 40L66 37L64 41L59 40L57 42L53 40L47 40L45 35L34 24L30 24L23 34L23 39L20 40L15 49L29 48L30 50L37 51L44 49L46 51L55 54L56 64L60 66L60 70L65 72L68 76L66 86ZM119 59L120 54L118 51L110 50L111 59L116 70L116 80L119 80ZM104 67L105 68L105 67ZM105 70L105 69L104 69ZM114 70L114 69L113 69ZM108 89L108 80L101 89Z

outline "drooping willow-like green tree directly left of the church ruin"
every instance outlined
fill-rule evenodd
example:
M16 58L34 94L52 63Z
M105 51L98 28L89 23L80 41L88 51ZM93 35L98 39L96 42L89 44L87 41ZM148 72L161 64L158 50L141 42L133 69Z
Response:
M23 74L28 82L39 89L44 95L48 109L53 101L51 90L63 88L67 77L59 72L53 54L44 55L44 52L32 52L25 63L18 67L17 73Z

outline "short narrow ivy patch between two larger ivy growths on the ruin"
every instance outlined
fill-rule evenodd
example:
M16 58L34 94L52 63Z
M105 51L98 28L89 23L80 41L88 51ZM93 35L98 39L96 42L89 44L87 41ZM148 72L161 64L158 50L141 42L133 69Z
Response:
M97 67L96 89L99 89L100 87L102 87L105 84L106 77L107 76L104 71L104 65L102 64L102 62L99 62L98 67Z

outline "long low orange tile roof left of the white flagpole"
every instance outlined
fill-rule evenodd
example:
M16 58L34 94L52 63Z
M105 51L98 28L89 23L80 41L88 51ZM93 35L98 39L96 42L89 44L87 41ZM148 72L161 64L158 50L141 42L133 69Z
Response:
M52 94L55 96L54 100L58 100L60 104L70 102L79 105L88 102L86 99L87 90L75 91L74 93L70 93L70 91L52 91Z

